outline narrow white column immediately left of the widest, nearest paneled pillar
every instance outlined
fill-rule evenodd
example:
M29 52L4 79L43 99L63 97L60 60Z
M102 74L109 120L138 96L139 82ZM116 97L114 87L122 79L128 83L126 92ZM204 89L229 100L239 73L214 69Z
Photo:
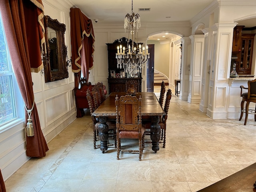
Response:
M202 92L199 110L202 112L207 111L208 107L208 93L209 93L209 80L210 80L210 65L211 65L211 42L212 42L212 30L211 28L205 28L202 30L204 33L204 61L203 61L203 73L202 73Z

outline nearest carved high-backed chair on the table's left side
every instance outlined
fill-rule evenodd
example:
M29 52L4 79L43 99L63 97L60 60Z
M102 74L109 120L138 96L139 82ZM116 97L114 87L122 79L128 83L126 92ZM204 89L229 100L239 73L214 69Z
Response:
M98 121L98 118L92 115L94 110L98 108L98 102L95 99L93 100L92 97L97 98L96 92L95 91L90 92L90 90L87 90L86 98L88 100L90 114L93 122L93 146L94 146L94 149L97 149L100 147L100 145L96 145L97 136L98 136L98 127L100 125L100 122ZM116 148L116 121L108 120L107 125L108 125L108 130L113 132L113 134L110 134L110 135L113 135L113 139L115 142L115 144L108 144L108 146L115 146Z

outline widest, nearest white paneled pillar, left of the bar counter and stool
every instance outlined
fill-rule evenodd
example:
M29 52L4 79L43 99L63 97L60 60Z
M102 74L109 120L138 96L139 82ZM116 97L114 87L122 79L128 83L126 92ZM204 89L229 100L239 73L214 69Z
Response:
M237 23L216 23L212 28L212 64L210 65L209 101L206 114L210 118L228 118L228 95L233 30Z

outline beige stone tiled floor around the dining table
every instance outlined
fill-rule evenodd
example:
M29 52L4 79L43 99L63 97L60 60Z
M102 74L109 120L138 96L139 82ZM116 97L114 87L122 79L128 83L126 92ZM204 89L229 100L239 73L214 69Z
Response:
M116 160L115 148L93 149L87 115L6 180L7 192L196 192L256 162L256 122L212 120L172 92L166 148L155 154L145 144L142 161L123 153Z

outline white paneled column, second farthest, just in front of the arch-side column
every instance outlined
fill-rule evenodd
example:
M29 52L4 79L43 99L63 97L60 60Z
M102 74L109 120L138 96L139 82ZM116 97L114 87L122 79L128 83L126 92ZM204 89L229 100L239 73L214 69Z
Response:
M204 58L204 35L192 35L188 102L200 103Z

